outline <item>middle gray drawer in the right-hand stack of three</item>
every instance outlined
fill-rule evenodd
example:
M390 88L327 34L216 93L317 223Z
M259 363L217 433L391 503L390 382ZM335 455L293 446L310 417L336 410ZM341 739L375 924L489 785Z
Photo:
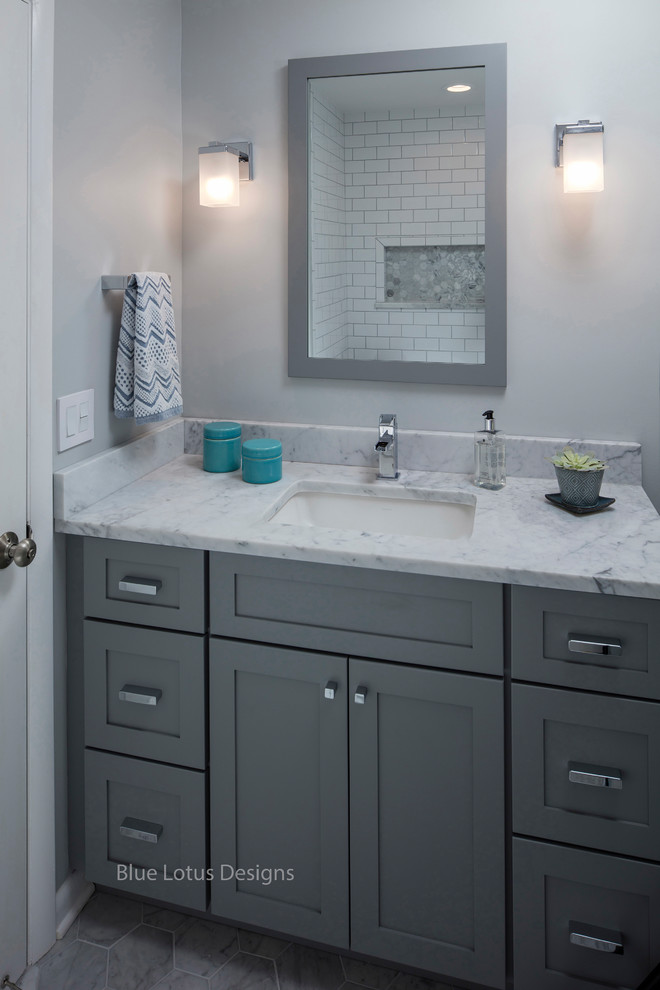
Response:
M660 705L514 684L513 827L660 860Z

